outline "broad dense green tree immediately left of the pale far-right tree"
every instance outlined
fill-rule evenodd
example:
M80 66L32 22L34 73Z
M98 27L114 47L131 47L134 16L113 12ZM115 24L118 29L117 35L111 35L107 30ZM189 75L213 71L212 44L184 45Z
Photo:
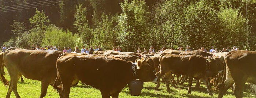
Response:
M204 0L186 7L185 23L182 27L186 39L183 45L189 45L193 50L205 49L220 44L216 41L219 34L219 19L216 11Z

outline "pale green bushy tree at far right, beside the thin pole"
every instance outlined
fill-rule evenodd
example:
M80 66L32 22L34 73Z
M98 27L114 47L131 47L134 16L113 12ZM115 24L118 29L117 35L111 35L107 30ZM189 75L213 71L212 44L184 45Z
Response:
M220 8L218 17L221 23L221 33L218 41L222 47L235 45L240 49L246 45L247 31L246 18L241 15L240 8Z

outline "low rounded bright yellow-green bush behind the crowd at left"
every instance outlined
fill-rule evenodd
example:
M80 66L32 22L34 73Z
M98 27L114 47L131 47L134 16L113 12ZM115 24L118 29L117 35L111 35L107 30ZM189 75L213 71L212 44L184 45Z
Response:
M64 46L70 46L72 49L74 49L76 40L76 34L73 35L69 30L64 31L58 27L55 27L54 25L51 25L47 28L45 38L42 39L41 45L55 45L60 46L61 48Z

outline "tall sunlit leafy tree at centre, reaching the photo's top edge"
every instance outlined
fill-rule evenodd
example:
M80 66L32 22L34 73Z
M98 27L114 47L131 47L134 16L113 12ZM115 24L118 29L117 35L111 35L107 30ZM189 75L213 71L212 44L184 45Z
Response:
M144 1L125 0L121 3L123 13L119 15L118 25L121 45L126 51L135 51L135 47L148 46L149 16L148 6Z

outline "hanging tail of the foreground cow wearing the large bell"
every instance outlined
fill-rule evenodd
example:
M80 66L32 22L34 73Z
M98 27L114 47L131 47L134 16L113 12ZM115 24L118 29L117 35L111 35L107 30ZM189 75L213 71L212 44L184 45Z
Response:
M61 56L64 56L64 55L65 55L65 53L60 54L59 57L57 58L57 61ZM62 84L62 83L60 82L60 75L59 75L59 70L57 68L57 62L56 62L56 70L57 70L57 75L56 75L56 79L53 84L53 89L57 90L57 92L60 93L60 91L62 90L62 87L58 87L58 86L59 86L59 84Z

